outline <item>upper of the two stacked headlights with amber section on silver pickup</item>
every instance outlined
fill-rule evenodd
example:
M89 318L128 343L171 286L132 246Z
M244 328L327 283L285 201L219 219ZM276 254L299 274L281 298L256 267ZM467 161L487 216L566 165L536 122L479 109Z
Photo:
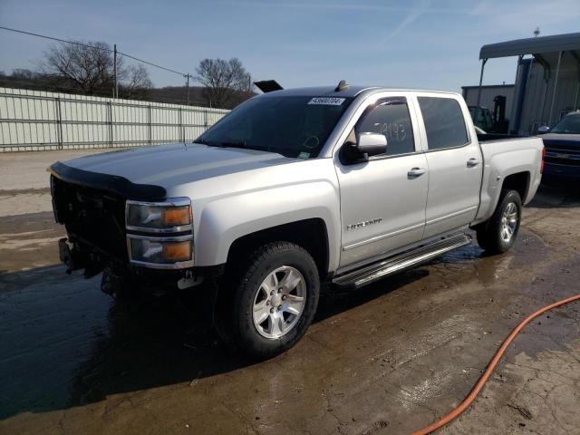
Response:
M129 230L188 230L191 229L191 205L189 199L159 203L127 201L126 219Z

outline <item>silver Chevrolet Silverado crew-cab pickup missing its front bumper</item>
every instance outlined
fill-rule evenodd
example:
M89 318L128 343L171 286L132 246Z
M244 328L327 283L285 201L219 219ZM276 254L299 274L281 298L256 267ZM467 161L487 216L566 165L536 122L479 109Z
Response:
M303 336L321 285L370 284L469 244L469 228L489 253L511 247L544 146L494 139L456 93L267 92L193 143L53 164L61 258L104 270L108 293L216 292L219 333L270 357Z

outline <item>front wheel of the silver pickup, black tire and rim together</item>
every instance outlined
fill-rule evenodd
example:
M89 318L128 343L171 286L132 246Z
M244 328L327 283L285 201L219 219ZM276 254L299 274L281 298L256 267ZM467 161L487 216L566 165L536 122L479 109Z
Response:
M312 323L318 268L303 247L282 241L259 247L242 265L219 289L218 333L253 359L272 358L294 346Z

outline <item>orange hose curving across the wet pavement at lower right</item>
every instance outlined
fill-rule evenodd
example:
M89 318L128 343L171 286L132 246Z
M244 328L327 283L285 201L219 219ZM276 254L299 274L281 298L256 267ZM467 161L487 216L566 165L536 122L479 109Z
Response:
M519 324L517 324L517 326L509 335L507 335L506 340L504 341L504 343L501 344L501 347L498 349L498 352L495 354L491 362L489 362L488 368L486 369L485 372L483 372L483 374L478 380L478 383L476 383L471 392L469 392L469 395L465 399L463 399L463 401L459 403L459 405L453 411L450 411L449 414L441 417L440 420L432 422L429 426L425 426L420 430L415 430L414 432L412 432L411 435L426 435L428 433L431 433L433 430L440 429L441 427L448 424L451 420L454 420L457 417L459 417L459 415L461 415L463 411L469 408L469 405L475 400L479 391L481 391L485 383L488 382L491 372L493 372L493 369L495 369L496 365L498 365L499 360L506 352L507 346L514 340L514 338L516 338L516 335L524 328L524 326L529 324L538 315L546 313L546 311L578 300L580 300L580 295L575 295L572 297L568 297L567 299L558 301L554 304L546 305L545 307L537 310L535 313L529 314L524 320L522 320Z

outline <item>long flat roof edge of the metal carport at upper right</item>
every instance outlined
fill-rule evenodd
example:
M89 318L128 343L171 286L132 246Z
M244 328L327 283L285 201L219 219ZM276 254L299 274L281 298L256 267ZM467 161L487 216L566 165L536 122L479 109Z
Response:
M479 50L479 59L558 52L580 52L580 32L488 43Z

